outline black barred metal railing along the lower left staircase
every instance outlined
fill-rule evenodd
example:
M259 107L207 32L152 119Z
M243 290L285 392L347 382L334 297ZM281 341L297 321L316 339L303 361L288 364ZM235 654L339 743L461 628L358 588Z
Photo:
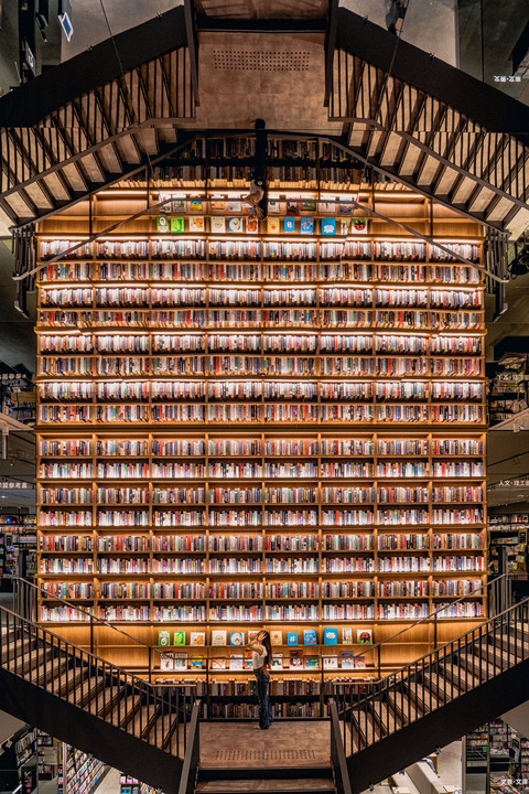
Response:
M95 718L182 758L193 685L152 685L0 607L0 666Z

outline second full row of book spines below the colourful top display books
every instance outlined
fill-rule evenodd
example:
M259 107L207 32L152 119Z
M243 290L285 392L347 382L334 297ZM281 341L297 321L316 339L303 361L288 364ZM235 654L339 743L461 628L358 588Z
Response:
M169 242L169 246L172 242ZM476 268L455 265L371 265L367 261L302 260L314 244L276 243L281 262L234 261L63 261L41 269L41 282L52 281L381 281L435 285L479 285ZM284 255L284 256L283 256Z

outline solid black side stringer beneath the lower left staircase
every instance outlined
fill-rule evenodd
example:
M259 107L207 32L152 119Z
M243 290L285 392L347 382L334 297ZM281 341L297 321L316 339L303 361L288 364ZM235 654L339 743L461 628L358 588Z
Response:
M164 794L176 794L183 762L0 668L0 709Z

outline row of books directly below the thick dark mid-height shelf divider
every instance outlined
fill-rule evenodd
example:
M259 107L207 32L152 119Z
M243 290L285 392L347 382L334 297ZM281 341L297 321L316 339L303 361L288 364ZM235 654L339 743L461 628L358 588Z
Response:
M259 433L251 438L100 438L47 439L39 441L44 457L271 457L317 458L342 455L481 455L484 443L478 438L278 438ZM494 523L494 517L492 519Z

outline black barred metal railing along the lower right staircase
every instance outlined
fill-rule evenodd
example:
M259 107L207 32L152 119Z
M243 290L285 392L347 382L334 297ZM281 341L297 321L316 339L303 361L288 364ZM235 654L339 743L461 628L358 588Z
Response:
M529 598L382 680L367 684L360 696L352 694L348 706L342 704L348 755L529 659L528 615Z

